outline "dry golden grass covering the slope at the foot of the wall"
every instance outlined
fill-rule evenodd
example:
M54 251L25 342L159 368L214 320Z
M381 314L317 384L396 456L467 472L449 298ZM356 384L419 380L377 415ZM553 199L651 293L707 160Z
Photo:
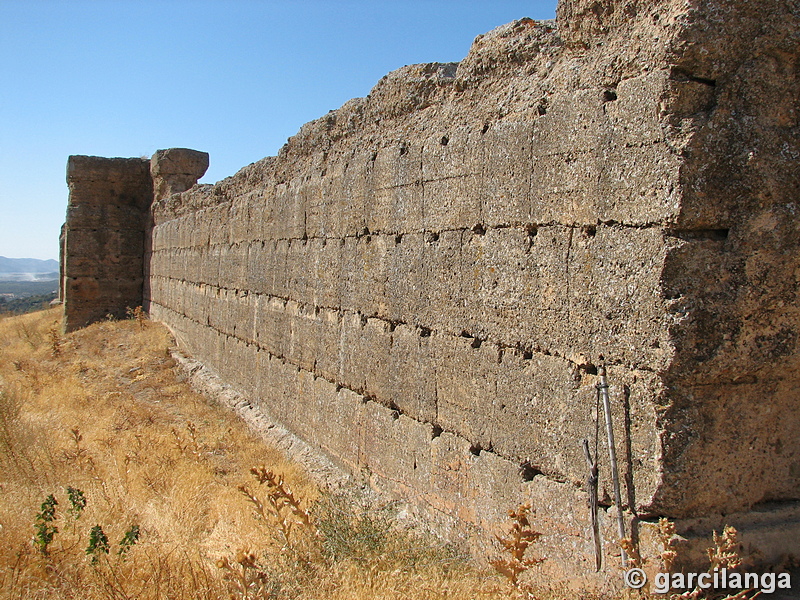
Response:
M320 499L134 317L67 336L58 309L0 320L0 597L509 597L389 516Z

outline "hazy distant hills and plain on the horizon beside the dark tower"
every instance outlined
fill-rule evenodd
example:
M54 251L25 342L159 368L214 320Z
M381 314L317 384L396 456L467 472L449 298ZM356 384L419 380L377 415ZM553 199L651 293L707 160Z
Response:
M57 260L0 256L0 313L39 310L57 297Z

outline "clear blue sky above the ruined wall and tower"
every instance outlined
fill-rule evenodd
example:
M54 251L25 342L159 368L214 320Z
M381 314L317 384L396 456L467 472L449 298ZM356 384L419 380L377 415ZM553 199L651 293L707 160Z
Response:
M556 0L0 0L0 255L58 258L70 154L277 153L386 73Z

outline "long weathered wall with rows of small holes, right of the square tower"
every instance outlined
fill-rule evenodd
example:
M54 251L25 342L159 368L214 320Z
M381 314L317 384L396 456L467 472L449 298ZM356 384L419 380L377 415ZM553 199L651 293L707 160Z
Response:
M584 438L612 504L606 365L628 527L757 521L780 552L800 522L798 25L778 0L563 0L390 73L277 157L158 199L146 306L454 531L486 539L532 500L543 569L584 583Z

